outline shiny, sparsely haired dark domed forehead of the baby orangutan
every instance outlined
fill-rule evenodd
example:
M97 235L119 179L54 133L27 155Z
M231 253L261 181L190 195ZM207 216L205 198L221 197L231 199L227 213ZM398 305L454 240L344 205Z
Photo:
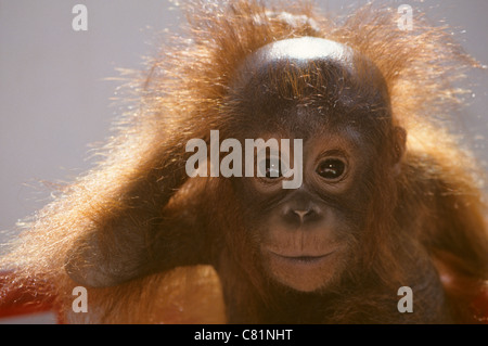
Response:
M351 48L322 38L286 39L260 48L241 66L231 97L245 107L241 114L253 117L294 117L297 106L326 121L389 117L380 69Z

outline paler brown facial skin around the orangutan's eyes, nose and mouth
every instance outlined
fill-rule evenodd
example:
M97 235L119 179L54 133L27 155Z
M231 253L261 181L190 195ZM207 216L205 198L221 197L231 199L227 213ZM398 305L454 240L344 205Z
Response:
M367 153L346 133L322 133L304 145L304 181L283 190L283 177L243 179L244 202L258 225L259 253L279 283L311 292L336 282L350 262L367 198ZM256 221L257 220L257 221Z

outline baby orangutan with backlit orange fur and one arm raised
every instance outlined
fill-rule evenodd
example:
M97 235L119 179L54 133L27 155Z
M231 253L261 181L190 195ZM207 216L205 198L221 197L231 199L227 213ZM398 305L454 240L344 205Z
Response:
M54 297L66 322L481 321L486 206L444 123L475 63L449 35L371 5L341 25L284 1L185 10L191 40L1 259L2 290ZM188 143L210 152L192 174Z

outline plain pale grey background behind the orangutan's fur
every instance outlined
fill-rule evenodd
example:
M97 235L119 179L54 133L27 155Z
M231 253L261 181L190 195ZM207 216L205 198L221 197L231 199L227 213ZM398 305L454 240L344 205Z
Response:
M317 1L335 12L364 1ZM88 31L74 31L72 9L88 8ZM389 1L446 20L465 50L488 65L488 1ZM164 0L0 0L0 230L49 201L48 182L70 181L91 166L90 145L110 136L117 67L141 69L157 50L157 33L183 22ZM415 20L415 17L413 17ZM151 44L153 43L153 44ZM486 73L471 81L474 98L460 120L479 161L486 148ZM8 233L0 234L0 243ZM49 321L49 320L38 320Z

